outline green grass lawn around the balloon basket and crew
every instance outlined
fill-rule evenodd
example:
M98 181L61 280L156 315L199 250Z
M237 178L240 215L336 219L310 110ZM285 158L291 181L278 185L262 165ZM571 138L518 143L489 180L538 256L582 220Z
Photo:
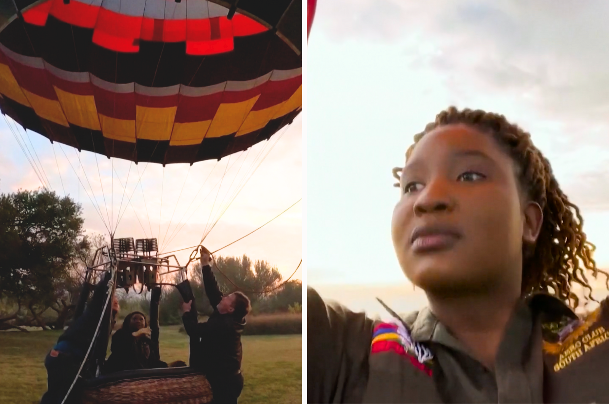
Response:
M161 327L161 360L188 363L188 336ZM38 403L46 391L44 357L60 331L0 332L0 403ZM244 336L240 404L302 402L302 336Z

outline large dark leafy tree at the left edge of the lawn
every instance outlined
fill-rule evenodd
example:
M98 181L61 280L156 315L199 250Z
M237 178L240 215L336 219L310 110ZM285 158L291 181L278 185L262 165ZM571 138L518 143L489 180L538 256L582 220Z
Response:
M71 198L47 190L0 195L0 299L16 302L15 316L26 307L45 328L41 313L57 303L78 251L90 248L81 212Z

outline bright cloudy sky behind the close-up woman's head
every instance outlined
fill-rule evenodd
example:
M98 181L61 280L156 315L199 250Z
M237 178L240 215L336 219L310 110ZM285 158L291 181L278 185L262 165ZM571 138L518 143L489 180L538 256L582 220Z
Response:
M307 62L308 284L372 312L375 296L398 310L425 303L393 254L391 169L449 105L530 131L609 268L607 13L600 0L320 2Z

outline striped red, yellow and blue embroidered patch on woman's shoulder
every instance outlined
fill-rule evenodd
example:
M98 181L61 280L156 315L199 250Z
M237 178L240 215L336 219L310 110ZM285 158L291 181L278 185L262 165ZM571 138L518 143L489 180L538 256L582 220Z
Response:
M434 355L428 347L412 340L409 330L396 319L381 322L375 327L370 353L395 352L406 357L410 363L429 376L432 375L431 360Z

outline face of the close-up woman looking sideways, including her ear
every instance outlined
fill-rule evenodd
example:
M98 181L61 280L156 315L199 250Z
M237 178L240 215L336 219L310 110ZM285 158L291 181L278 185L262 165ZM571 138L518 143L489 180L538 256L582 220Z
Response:
M513 161L492 136L437 128L415 146L400 182L393 246L415 285L442 295L520 290L523 237L540 226L541 210L521 200Z

